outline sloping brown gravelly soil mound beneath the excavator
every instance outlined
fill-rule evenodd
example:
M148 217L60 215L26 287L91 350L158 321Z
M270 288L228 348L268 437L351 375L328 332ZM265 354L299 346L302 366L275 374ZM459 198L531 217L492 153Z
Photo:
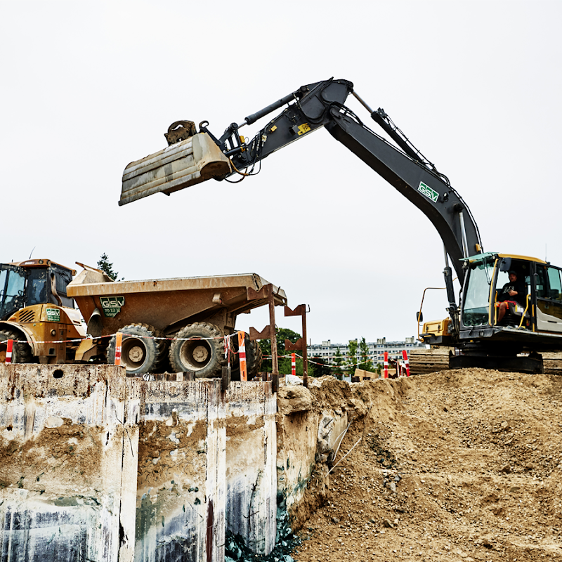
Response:
M295 561L562 560L562 377L320 382L315 407L353 421L294 521Z

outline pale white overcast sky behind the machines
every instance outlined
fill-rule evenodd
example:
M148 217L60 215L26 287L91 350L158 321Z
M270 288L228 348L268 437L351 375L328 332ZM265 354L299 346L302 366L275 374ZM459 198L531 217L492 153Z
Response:
M562 265L561 16L537 0L0 0L0 260L34 249L95 266L106 252L127 280L251 271L311 306L313 343L414 335L424 287L443 286L443 244L327 131L235 186L118 207L122 171L178 119L219 136L344 78L450 178L486 250ZM446 304L433 292L426 319ZM265 324L263 309L237 326ZM300 331L281 308L277 325Z

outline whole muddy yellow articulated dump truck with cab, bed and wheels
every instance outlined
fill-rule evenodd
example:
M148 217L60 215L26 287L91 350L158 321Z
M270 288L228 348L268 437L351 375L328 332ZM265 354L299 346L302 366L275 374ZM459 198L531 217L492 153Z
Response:
M221 377L228 362L225 336L235 333L237 315L268 303L256 298L268 285L256 273L115 282L96 268L79 266L83 270L72 280L74 270L50 260L0 264L0 360L6 358L6 340L13 339L13 362L113 363L116 334L122 332L127 374L171 370ZM282 289L273 286L273 294L276 305L287 303ZM251 377L259 371L261 353L246 337ZM236 352L237 338L228 341ZM236 379L234 357L230 353Z

